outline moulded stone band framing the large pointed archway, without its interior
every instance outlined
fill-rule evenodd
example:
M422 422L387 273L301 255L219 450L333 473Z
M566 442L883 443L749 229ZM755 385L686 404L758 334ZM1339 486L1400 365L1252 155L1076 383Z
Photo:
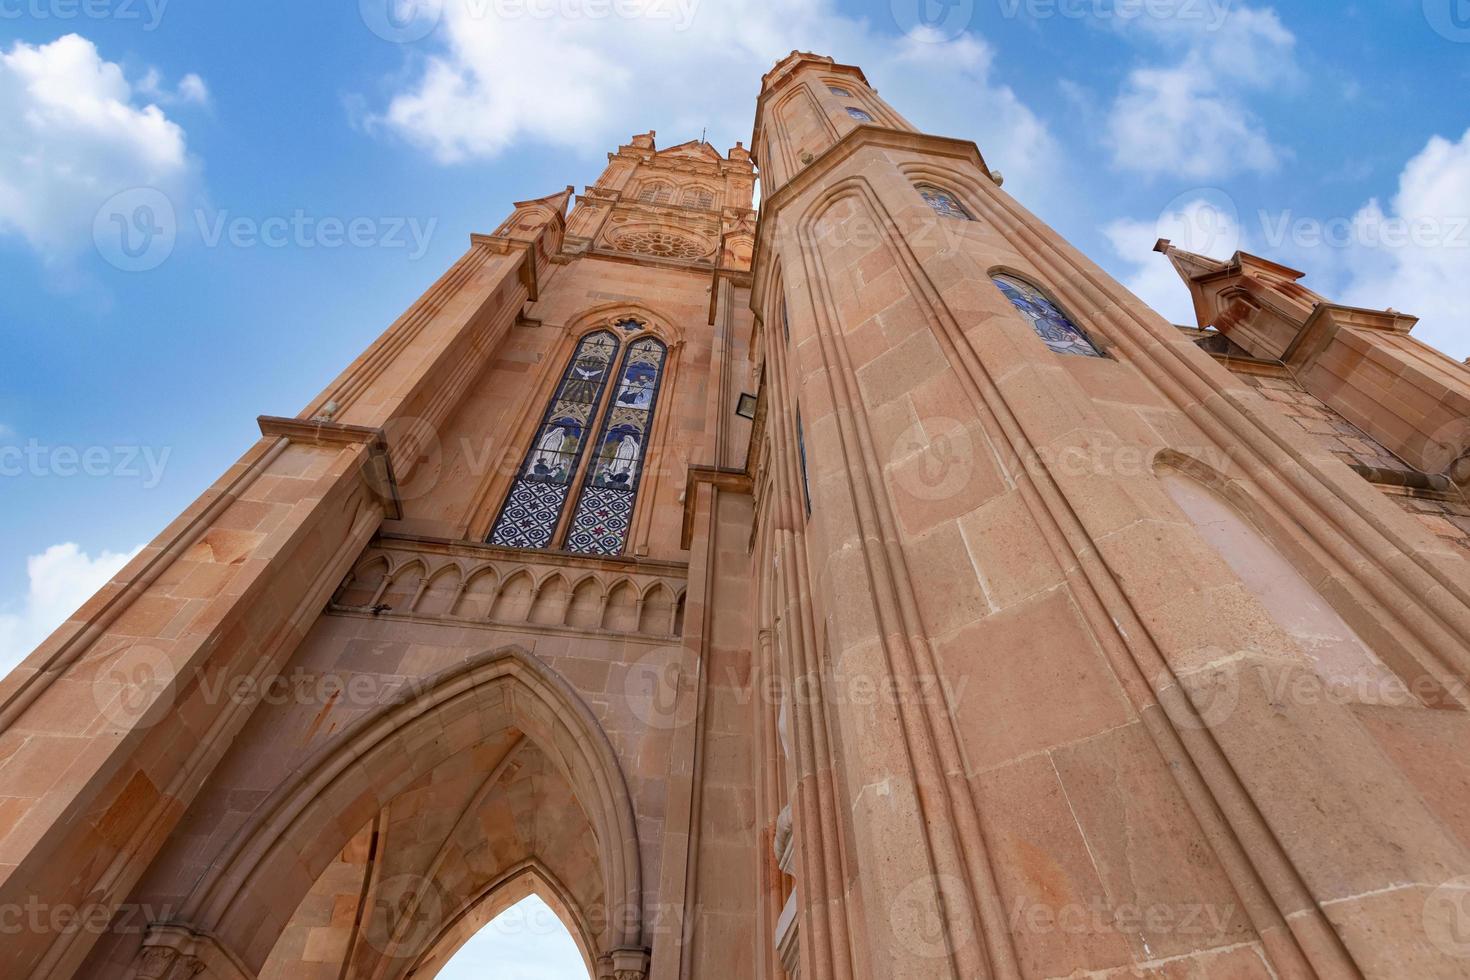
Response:
M259 970L310 883L369 811L456 754L506 733L520 733L545 755L591 826L607 904L598 952L641 949L639 842L613 746L572 688L519 646L473 657L344 729L259 807L173 921L150 936L187 929ZM146 939L144 954L150 945Z

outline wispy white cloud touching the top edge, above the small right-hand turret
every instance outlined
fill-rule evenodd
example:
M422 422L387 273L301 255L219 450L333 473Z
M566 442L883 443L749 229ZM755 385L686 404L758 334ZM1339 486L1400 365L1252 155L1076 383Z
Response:
M1183 10L1207 10L1200 4ZM1129 72L1108 112L1113 163L1147 175L1213 179L1270 172L1283 151L1247 100L1298 75L1297 40L1274 10L1220 9L1217 16L1139 21L1173 57Z

